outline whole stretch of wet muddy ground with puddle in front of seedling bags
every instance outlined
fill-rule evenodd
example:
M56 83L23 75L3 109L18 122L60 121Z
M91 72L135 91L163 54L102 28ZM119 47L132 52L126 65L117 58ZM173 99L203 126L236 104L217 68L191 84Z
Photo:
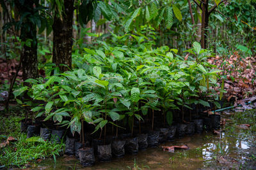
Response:
M111 162L96 162L93 167L83 167L75 157L64 156L56 163L52 159L42 160L33 169L256 169L255 132L240 129L235 123L237 117L230 116L230 113L222 114L221 117L227 120L220 134L205 132L185 136L157 148L140 151L137 155L113 158ZM189 150L163 152L163 145L188 145Z

